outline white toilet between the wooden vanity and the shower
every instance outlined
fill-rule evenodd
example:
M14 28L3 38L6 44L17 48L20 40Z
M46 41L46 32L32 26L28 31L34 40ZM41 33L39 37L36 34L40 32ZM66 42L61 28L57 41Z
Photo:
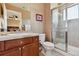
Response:
M52 50L54 49L54 44L51 42L45 42L45 34L39 34L40 44L46 50L45 55L52 55Z

